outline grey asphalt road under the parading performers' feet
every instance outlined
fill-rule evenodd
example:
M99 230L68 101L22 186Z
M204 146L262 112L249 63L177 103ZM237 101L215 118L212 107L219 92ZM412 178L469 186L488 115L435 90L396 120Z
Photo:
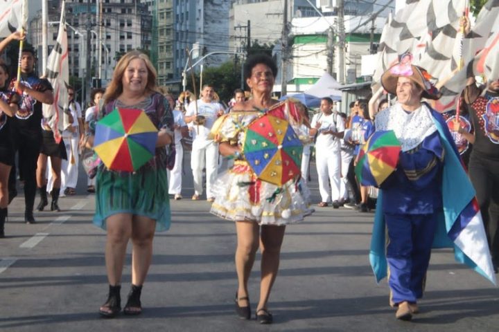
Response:
M184 199L170 201L172 227L156 234L138 317L98 315L107 296L105 232L91 224L94 196L83 175L77 195L60 199L62 212L37 212L36 225L24 224L24 201L17 197L9 206L8 237L0 239L0 331L499 330L498 289L455 264L451 250L433 252L421 313L412 322L396 321L387 283L376 284L369 267L374 214L344 208L316 208L304 223L288 226L270 298L274 324L238 320L234 225L209 214L206 201L188 199L193 186L186 173ZM311 190L318 201L315 172ZM259 262L249 281L253 310Z

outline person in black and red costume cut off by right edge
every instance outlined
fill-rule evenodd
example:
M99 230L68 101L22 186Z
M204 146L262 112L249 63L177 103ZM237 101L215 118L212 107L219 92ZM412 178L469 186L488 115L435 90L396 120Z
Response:
M489 241L494 272L499 266L499 77L487 91L468 80L464 100L475 129L475 142L469 160L469 175L475 187L485 233Z

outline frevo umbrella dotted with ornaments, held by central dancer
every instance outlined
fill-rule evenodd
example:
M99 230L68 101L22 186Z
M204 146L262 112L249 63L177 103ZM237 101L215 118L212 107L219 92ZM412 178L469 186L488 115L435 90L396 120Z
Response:
M300 174L301 144L288 121L264 114L246 129L243 154L261 181L281 187Z

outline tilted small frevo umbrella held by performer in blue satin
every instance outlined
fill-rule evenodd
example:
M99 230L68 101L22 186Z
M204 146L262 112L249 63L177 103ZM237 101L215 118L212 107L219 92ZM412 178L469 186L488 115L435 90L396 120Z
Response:
M359 151L355 167L358 181L379 187L394 172L400 151L394 131L375 131Z

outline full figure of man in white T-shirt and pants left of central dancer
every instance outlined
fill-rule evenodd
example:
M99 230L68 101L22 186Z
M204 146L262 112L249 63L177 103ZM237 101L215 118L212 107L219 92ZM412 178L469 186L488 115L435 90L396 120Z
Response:
M207 201L215 200L211 187L215 183L218 171L218 144L209 139L208 134L215 120L224 113L224 108L222 104L213 101L214 93L213 87L205 84L202 87L201 99L191 102L184 116L193 136L191 151L191 169L194 178L193 201L198 201L203 192L203 168L206 168Z

